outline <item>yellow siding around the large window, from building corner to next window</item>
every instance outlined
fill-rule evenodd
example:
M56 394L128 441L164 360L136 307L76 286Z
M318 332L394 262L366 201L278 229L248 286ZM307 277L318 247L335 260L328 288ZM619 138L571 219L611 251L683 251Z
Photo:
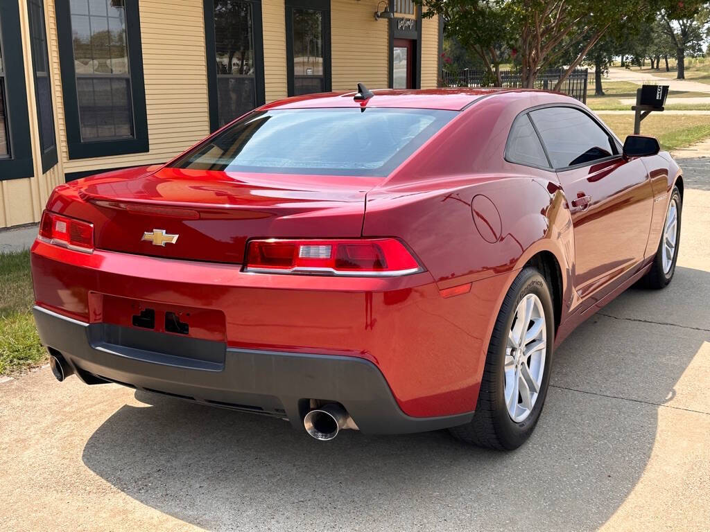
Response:
M64 172L165 162L209 133L204 14L200 0L141 0L143 77L150 151L69 160L54 0L48 8L48 38Z

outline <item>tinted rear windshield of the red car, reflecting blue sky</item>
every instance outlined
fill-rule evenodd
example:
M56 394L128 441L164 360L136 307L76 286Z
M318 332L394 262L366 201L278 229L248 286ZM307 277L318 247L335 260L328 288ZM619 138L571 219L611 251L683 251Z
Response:
M456 114L381 108L256 112L197 146L173 167L386 176Z

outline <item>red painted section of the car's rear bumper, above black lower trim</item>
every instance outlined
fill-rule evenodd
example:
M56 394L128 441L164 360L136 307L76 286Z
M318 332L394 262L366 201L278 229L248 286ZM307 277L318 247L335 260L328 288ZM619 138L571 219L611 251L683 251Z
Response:
M166 311L184 310L192 317L190 338L182 340L226 341L230 358L265 351L367 360L401 411L415 418L474 410L493 321L515 275L480 279L470 292L444 298L429 272L261 275L239 265L80 253L39 240L31 265L38 306L92 326L131 328L131 316L150 307L160 333ZM211 383L205 387L219 387Z

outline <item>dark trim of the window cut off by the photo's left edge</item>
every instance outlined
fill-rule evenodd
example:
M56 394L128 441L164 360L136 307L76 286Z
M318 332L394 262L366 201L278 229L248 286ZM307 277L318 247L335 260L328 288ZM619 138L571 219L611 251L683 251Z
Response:
M0 159L0 181L4 181L33 177L35 173L18 2L0 2L0 40L5 72L5 121L10 148L10 157ZM9 54L8 50L13 52Z

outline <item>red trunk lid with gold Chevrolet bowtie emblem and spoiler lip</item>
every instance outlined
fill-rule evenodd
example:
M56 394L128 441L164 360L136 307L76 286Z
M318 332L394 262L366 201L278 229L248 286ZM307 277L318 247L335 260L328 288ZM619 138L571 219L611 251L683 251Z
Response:
M359 237L365 196L381 180L145 170L77 182L97 249L239 264L249 238Z

